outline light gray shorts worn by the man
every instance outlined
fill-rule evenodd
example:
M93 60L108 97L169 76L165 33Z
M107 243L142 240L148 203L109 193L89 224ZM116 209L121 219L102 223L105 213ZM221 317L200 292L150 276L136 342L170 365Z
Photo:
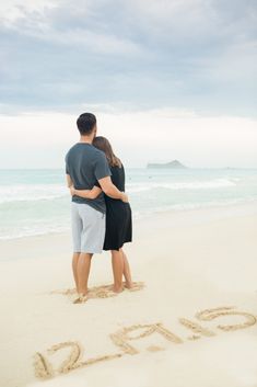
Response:
M105 214L84 203L71 203L73 251L101 253L105 238Z

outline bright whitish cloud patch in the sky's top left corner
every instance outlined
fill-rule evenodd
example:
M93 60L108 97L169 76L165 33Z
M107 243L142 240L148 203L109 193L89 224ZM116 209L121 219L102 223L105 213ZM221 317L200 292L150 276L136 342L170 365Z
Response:
M77 7L81 3L85 2L78 1ZM66 7L62 9L61 4ZM86 27L84 21L91 16L90 7L82 8L82 12L81 9L78 12L79 9L73 8L72 3L67 1L63 3L60 1L49 2L49 0L37 0L33 4L23 4L22 2L20 4L16 1L12 7L10 4L9 7L0 8L0 20L3 25L19 35L36 38L39 43L87 48L98 54L137 55L140 53L137 42L122 38L112 32L105 34ZM84 19L81 18L82 15ZM68 23L65 24L67 18L69 18ZM83 23L80 23L81 19Z

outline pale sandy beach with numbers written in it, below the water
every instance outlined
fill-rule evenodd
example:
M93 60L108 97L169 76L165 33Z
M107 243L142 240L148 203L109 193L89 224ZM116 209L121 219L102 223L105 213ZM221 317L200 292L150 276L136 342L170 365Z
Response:
M105 297L103 253L81 305L69 234L2 241L1 386L256 387L256 202L137 220L144 288Z

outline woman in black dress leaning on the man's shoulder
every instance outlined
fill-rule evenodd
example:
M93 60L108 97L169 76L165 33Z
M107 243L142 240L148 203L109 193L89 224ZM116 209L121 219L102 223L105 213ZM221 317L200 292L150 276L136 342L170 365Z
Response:
M107 138L98 136L95 137L93 145L102 150L107 158L112 172L112 181L118 190L125 192L125 170L121 161L115 156L113 148ZM72 195L78 195L86 198L95 198L101 193L98 186L90 190L74 190L71 189ZM114 273L115 293L122 292L122 275L125 276L125 286L133 287L131 280L130 268L128 259L122 250L124 243L132 241L132 220L131 208L129 203L124 203L119 200L110 198L105 195L106 202L106 235L104 242L104 250L110 250L112 264Z

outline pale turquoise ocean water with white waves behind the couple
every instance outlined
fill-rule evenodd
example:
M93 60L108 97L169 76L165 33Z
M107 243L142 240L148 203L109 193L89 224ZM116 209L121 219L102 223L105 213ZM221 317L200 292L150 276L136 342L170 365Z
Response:
M257 200L257 170L127 169L133 217ZM0 240L70 229L63 170L0 170Z

